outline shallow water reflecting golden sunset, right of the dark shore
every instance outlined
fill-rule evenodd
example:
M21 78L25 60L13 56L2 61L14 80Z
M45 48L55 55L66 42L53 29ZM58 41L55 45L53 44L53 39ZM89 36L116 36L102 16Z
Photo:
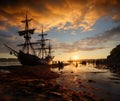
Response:
M107 67L93 64L75 67L73 64L62 70L52 69L60 75L57 82L77 92L86 92L108 101L120 101L120 76Z

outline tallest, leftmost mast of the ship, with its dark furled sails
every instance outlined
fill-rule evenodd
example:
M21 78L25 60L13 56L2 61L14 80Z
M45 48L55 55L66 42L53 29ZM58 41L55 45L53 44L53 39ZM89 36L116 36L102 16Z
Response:
M32 46L32 43L30 42L31 34L34 34L34 30L35 30L35 29L29 29L29 22L31 20L32 19L28 19L28 16L26 13L26 19L21 21L22 23L25 23L25 30L18 32L20 36L24 36L25 42L24 42L24 44L20 44L18 46L23 46L22 51L27 53L27 54L30 53L30 49L31 49L32 53L35 55L34 48Z

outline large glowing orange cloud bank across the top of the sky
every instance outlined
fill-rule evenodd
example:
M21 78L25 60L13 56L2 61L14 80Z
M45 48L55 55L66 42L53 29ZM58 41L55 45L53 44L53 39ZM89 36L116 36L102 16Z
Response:
M29 17L34 18L33 26L39 28L44 24L46 30L56 27L88 31L103 16L111 16L114 21L120 19L119 0L1 0L0 20L6 19L6 23L18 26L26 10ZM68 22L70 25L66 26Z

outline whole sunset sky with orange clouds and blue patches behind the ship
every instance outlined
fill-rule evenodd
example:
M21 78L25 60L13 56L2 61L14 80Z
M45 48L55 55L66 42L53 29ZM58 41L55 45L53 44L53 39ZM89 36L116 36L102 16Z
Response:
M19 50L24 42L26 12L36 29L31 41L43 26L55 60L106 58L120 44L119 0L0 0L0 58L15 57L3 43Z

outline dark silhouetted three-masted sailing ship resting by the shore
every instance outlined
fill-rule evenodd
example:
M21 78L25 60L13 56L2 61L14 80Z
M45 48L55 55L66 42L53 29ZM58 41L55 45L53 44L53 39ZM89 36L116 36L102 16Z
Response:
M51 44L49 39L45 39L47 34L42 33L39 35L41 37L37 42L31 42L31 36L34 34L35 29L29 28L29 22L32 19L28 19L26 14L26 19L22 21L25 24L25 29L22 31L18 31L19 36L22 36L25 40L23 44L19 44L17 46L21 46L22 49L18 51L12 49L7 44L4 44L10 51L10 54L14 54L22 65L40 65L40 64L49 64L54 56L51 55ZM46 41L49 41L49 45L47 46ZM34 48L34 45L39 45L38 48ZM38 54L36 54L36 50ZM31 52L30 52L31 51Z

